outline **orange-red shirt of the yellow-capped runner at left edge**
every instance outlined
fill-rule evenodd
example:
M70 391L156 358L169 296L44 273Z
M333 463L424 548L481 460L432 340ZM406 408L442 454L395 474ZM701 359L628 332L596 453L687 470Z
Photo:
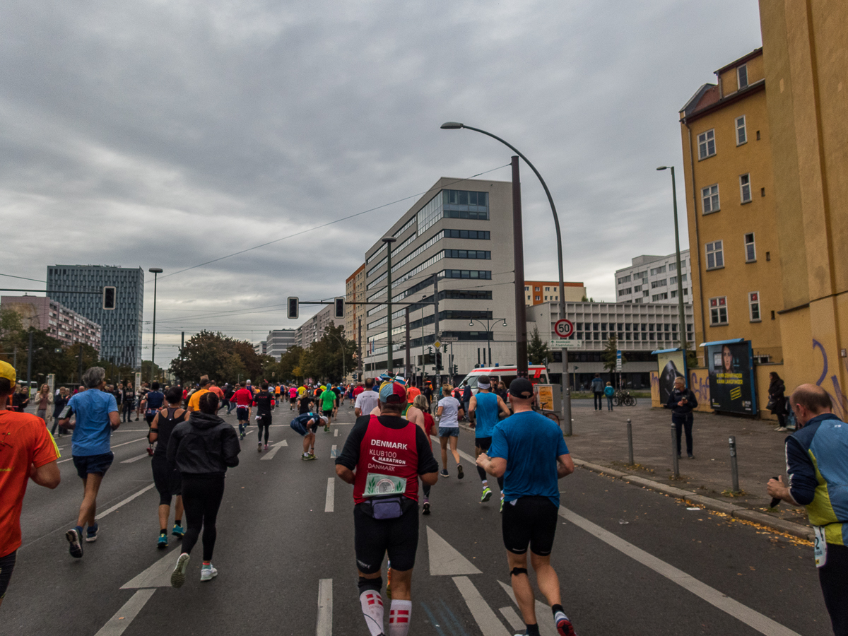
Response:
M20 548L20 510L30 467L57 459L59 449L42 418L0 410L0 556Z

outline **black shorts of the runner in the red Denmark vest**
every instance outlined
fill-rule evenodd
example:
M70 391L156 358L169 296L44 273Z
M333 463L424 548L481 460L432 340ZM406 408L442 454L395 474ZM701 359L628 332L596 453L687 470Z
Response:
M380 572L387 552L393 570L405 572L416 565L418 506L409 500L404 508L397 519L374 519L363 512L361 504L354 506L354 548L360 572Z

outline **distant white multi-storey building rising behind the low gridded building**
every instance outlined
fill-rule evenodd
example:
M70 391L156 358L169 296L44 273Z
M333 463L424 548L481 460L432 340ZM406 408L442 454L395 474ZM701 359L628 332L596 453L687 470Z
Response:
M680 250L680 272L677 270L677 254L637 256L629 267L616 271L616 301L677 304L679 273L683 283L683 302L691 303L688 249Z

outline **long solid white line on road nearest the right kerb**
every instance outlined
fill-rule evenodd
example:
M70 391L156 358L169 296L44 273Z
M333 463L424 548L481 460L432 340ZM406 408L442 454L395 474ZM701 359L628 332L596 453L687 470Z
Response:
M672 583L677 583L683 589L688 589L692 594L700 596L701 599L706 600L710 605L714 605L719 610L727 612L730 616L734 616L734 618L744 622L750 628L754 628L756 631L764 633L767 636L800 636L800 634L784 627L779 622L773 621L768 616L763 616L760 612L750 609L747 605L742 605L738 600L731 599L728 595L722 594L706 583L701 583L695 577L683 572L683 570L678 570L678 568L665 561L661 561L656 556L650 555L628 541L625 541L623 538L590 522L589 519L577 515L572 510L560 506L560 516L572 522L575 526L582 527L589 534L594 534L595 537L600 538L605 544L628 555L634 561L639 561L643 566L650 567L651 570L666 577Z

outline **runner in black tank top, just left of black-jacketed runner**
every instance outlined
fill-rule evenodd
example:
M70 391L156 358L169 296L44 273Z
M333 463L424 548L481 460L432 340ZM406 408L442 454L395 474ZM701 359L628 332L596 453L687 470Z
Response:
M182 527L182 495L180 472L176 467L168 464L168 442L174 427L181 421L186 420L187 411L180 407L182 401L182 388L171 387L165 393L168 405L159 410L153 417L150 425L148 439L150 444L156 444L153 451L153 483L159 491L159 548L168 547L168 517L170 516L170 499L176 495L176 507L174 509L174 528L171 530L176 538L182 537L186 531Z

